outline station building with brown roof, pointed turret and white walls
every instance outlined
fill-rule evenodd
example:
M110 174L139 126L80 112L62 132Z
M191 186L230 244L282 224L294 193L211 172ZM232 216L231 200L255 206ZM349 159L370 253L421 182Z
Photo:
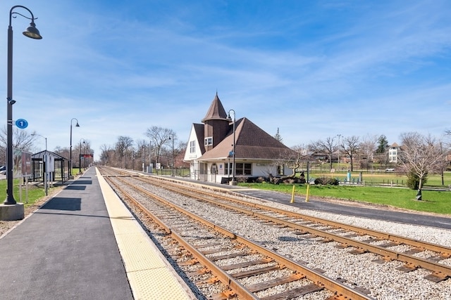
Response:
M233 177L233 121L214 97L203 124L192 124L184 161L190 178L227 183ZM295 151L280 143L246 117L235 120L235 178L291 174L281 162Z

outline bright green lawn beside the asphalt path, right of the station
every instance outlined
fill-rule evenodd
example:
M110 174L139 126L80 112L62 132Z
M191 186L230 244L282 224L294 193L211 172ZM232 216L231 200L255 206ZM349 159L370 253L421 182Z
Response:
M441 183L441 181L440 181ZM249 188L276 190L291 197L292 184L273 185L271 183L240 183ZM307 194L307 185L295 185L295 195ZM415 198L416 190L408 188L389 188L349 185L309 185L309 197L327 197L357 202L390 205L414 211L428 211L438 214L451 214L451 192L423 190L422 201Z

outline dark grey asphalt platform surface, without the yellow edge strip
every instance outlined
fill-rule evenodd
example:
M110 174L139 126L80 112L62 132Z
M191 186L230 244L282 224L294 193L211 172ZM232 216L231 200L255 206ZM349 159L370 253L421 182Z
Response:
M133 299L95 169L0 239L0 299Z

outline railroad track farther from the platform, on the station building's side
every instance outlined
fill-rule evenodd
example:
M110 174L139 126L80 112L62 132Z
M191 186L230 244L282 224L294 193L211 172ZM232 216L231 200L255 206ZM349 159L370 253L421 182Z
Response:
M398 270L410 272L417 268L431 270L431 274L426 279L433 282L440 282L451 278L451 266L447 266L441 261L451 257L451 248L439 244L431 244L424 241L414 240L408 237L383 233L369 228L360 228L344 223L319 219L313 216L297 214L283 209L268 207L263 204L250 203L239 200L230 195L212 195L209 190L199 190L189 185L180 185L171 181L161 181L157 178L140 177L137 180L173 191L186 197L208 202L233 211L247 214L261 220L272 223L274 226L285 226L297 230L297 234L305 235L304 238L321 237L321 242L339 242L338 247L354 247L352 254L363 254L371 252L381 256L376 262L402 261L404 266ZM228 192L230 193L230 192ZM402 251L390 249L403 245ZM427 254L426 259L415 254Z

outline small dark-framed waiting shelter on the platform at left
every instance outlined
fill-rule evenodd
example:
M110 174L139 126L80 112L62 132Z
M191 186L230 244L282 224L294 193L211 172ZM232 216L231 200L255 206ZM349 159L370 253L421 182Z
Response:
M44 181L44 172L46 171L49 181L61 181L61 183L64 183L69 180L69 159L44 150L33 154L31 160L32 181ZM47 160L47 164L44 164L45 160Z

